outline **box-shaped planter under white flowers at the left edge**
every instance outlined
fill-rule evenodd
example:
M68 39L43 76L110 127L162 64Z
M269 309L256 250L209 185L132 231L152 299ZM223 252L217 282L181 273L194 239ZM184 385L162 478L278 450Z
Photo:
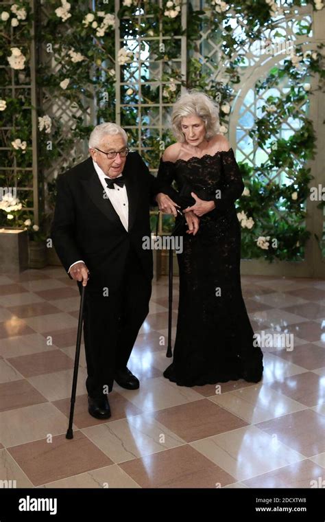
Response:
M27 230L14 227L0 229L0 273L23 272L27 268Z

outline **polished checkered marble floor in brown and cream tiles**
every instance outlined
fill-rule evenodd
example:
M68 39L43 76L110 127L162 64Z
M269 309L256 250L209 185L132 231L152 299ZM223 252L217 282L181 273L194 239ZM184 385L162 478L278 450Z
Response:
M256 333L269 334L258 385L178 387L170 362L167 280L154 284L112 417L87 411L84 347L67 440L80 297L60 267L0 276L0 487L310 488L325 478L325 280L242 277ZM173 336L177 310L177 279ZM284 347L276 334L292 334ZM289 339L289 336L288 336Z

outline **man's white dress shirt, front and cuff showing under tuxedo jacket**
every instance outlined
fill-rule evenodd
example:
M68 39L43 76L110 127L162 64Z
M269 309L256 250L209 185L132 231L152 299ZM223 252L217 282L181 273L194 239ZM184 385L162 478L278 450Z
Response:
M126 192L126 187L123 185L123 187L119 187L119 185L114 184L114 189L108 188L106 185L106 179L112 179L109 176L106 176L105 172L101 170L99 165L93 160L94 168L98 174L99 181L101 182L101 185L103 185L103 197L108 198L110 200L110 203L112 203L112 206L115 209L115 212L118 214L121 223L126 231L128 231L128 225L129 225L129 202L128 202L128 193ZM123 174L119 174L117 176L120 178ZM70 272L71 266L73 266L76 263L84 263L83 260L75 261L73 264L69 266L68 273Z

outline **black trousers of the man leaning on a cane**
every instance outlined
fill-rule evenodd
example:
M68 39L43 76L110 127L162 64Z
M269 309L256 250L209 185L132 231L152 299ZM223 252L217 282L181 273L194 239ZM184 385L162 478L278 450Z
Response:
M82 284L77 283L79 291ZM117 291L88 291L84 301L84 346L88 395L99 397L112 391L116 370L126 367L139 330L149 312L151 280L133 249L125 264ZM107 295L108 294L108 295Z

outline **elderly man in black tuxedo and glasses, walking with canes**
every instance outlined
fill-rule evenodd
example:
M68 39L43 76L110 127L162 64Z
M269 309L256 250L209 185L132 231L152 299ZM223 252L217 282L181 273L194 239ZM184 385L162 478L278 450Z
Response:
M86 285L84 344L88 412L111 416L107 394L113 381L139 388L127 363L149 311L152 251L149 206L176 214L169 196L157 194L156 178L138 152L129 152L127 135L116 124L96 126L89 139L91 157L58 177L51 227L56 252L80 293ZM186 214L188 232L198 219Z

